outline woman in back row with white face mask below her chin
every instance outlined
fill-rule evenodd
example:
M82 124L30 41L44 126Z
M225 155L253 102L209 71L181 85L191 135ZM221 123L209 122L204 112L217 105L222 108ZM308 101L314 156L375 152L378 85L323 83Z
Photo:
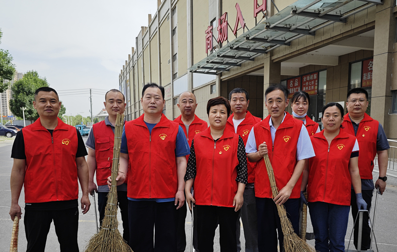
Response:
M307 116L307 110L309 109L310 97L309 94L305 91L298 91L292 95L291 100L291 108L292 108L292 117L294 119L298 119L303 121L305 124L307 132L309 132L309 136L312 136L316 133L320 132L319 124L309 116Z

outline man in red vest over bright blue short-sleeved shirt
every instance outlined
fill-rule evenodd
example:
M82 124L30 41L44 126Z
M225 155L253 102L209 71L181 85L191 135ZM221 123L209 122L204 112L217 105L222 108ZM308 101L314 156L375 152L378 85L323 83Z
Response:
M146 84L144 114L124 126L117 185L128 174L130 247L134 252L177 250L177 210L185 203L189 144L178 123L162 113L164 87ZM128 165L130 169L128 170ZM108 177L108 185L111 185ZM154 245L153 245L153 229Z

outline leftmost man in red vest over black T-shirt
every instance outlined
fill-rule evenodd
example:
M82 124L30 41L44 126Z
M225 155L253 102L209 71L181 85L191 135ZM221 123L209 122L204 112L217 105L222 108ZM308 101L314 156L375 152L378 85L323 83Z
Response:
M12 146L9 215L21 218L18 199L24 186L26 251L44 252L54 221L61 251L78 252L77 178L82 213L90 208L84 141L75 127L58 118L61 102L53 88L37 89L33 107L39 119L19 131Z

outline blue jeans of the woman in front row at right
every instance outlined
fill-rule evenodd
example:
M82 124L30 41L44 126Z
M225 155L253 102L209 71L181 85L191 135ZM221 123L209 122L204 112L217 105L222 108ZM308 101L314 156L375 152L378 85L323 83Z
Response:
M319 252L344 252L350 206L309 202L310 219Z

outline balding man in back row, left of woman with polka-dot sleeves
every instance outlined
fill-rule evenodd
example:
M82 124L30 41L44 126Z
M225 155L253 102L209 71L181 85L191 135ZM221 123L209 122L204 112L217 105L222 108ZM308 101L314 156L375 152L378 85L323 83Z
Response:
M208 128L207 122L201 120L196 114L196 95L192 92L186 91L178 97L178 108L181 110L181 115L175 118L174 122L179 123L182 127L186 138L188 139L189 148L192 144L192 140L196 134L204 131ZM189 155L186 156L189 158ZM186 219L187 207L184 204L178 210L178 226L177 226L177 252L184 252L186 249L186 233L185 233L185 219ZM195 212L196 215L196 212ZM195 218L197 221L197 218ZM196 223L196 222L195 222ZM197 251L197 225L194 225L193 233L193 246Z

